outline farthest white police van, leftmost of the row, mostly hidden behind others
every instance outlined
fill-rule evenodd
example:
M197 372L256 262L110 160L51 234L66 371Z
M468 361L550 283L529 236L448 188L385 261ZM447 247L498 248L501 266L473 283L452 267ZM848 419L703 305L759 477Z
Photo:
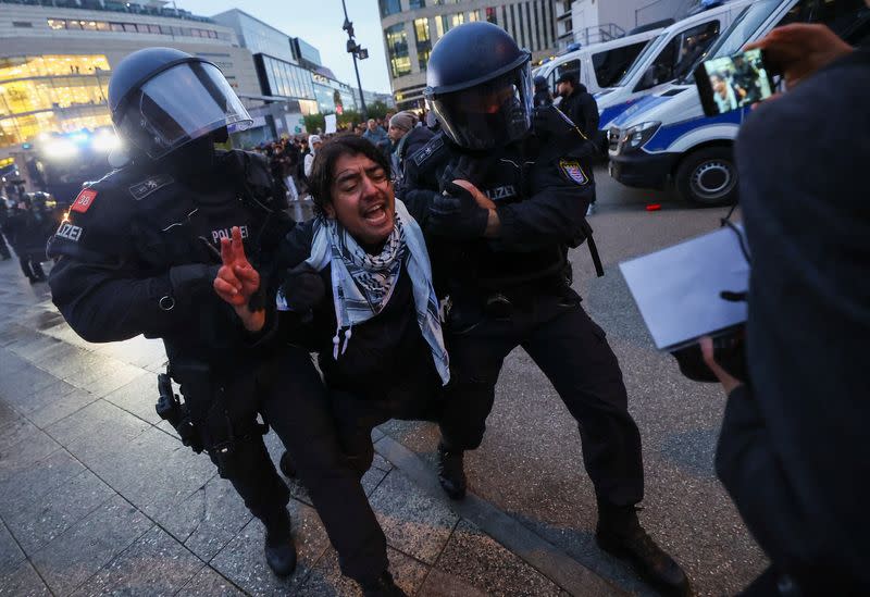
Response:
M556 57L535 69L534 76L547 79L550 89L556 90L556 80L564 74L573 74L577 82L586 86L589 94L600 91L616 84L631 66L644 47L662 29L629 35L585 46L573 52Z

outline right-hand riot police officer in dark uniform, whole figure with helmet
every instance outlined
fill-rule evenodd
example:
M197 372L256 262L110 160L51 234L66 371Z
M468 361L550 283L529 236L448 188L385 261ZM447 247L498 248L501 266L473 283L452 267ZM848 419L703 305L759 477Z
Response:
M557 109L533 110L530 58L488 23L446 34L425 90L443 133L406 166L401 199L427 234L450 298L455 424L442 428L439 481L450 497L464 496L462 452L481 444L502 361L522 346L580 424L598 545L662 590L684 594L685 574L637 519L641 436L619 363L566 276L567 247L589 233L595 150Z

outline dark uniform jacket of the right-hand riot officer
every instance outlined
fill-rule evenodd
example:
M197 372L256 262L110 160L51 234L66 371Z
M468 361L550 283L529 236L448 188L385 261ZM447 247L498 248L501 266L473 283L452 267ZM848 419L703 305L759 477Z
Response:
M577 246L586 235L586 207L595 192L587 151L584 144L560 148L529 135L485 154L467 153L439 133L408 160L398 196L426 234L436 289L488 293L559 277L564 247ZM430 208L446 177L465 178L495 201L498 239L457 241L431 234Z

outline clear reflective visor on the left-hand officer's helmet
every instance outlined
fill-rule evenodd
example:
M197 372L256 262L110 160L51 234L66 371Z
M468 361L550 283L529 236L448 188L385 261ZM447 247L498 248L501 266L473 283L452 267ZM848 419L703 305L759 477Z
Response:
M216 66L185 62L134 92L116 121L120 133L157 160L231 124L253 121Z

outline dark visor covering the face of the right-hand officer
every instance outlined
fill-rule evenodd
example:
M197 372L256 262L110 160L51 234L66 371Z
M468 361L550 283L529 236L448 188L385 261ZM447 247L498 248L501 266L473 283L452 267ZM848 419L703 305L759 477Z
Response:
M475 85L430 98L445 133L460 147L489 149L525 135L532 126L529 63Z

